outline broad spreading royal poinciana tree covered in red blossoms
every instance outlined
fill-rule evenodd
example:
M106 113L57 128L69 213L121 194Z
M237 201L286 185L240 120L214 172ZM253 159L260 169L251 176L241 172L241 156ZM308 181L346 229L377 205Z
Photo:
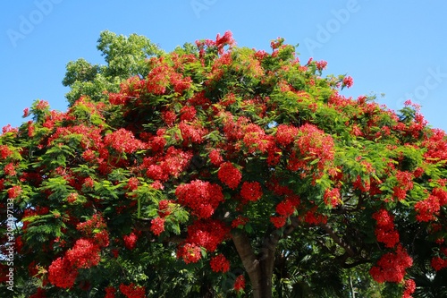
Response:
M311 271L361 268L411 297L445 278L445 132L271 47L226 32L158 52L115 93L4 127L4 293L298 297Z

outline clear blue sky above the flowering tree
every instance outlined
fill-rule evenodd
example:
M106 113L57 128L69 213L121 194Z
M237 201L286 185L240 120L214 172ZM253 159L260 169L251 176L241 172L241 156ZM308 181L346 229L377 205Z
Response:
M65 110L65 65L104 64L102 30L147 36L166 51L231 30L240 47L269 50L283 37L300 59L347 73L357 97L374 93L399 109L411 98L447 131L447 2L443 0L4 0L0 3L0 127L45 99ZM384 97L381 97L384 94Z

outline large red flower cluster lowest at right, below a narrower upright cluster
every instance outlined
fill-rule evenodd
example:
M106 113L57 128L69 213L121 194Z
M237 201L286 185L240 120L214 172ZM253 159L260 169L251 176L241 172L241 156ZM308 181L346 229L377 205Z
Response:
M378 283L400 283L405 277L406 269L413 265L413 260L401 245L395 253L385 253L377 262L377 266L369 270L371 277Z

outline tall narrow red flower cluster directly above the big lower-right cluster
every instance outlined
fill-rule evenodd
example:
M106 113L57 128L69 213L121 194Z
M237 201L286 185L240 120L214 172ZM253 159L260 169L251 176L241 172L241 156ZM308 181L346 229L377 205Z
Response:
M399 233L394 228L392 217L385 209L380 209L373 214L376 221L375 237L380 243L384 243L386 247L392 248L399 243Z

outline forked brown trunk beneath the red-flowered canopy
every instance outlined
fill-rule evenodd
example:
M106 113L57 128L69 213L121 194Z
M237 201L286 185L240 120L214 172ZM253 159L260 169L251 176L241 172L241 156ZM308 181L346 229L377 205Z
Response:
M266 237L258 256L255 255L246 234L234 232L232 233L232 241L245 270L249 274L253 298L272 298L274 251L278 243L278 237L274 235Z

